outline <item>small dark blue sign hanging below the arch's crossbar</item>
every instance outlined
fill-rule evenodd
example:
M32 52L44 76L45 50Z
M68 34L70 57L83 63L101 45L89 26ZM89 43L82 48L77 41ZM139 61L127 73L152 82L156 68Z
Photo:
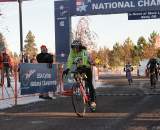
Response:
M141 20L141 19L157 19L160 18L160 11L138 11L128 13L128 20Z

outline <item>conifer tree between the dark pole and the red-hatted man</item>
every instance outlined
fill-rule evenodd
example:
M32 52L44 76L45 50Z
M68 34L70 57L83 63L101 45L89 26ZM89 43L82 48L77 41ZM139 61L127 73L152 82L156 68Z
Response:
M37 55L38 49L36 48L35 44L35 36L31 31L28 32L25 43L24 54L29 55L29 58L33 58L35 55Z

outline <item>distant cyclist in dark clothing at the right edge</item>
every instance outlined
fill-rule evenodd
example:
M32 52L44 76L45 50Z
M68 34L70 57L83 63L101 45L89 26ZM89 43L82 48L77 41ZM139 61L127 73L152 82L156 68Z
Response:
M150 60L147 63L147 70L149 70L149 73L153 73L155 71L156 79L158 80L158 61L155 57L150 58Z

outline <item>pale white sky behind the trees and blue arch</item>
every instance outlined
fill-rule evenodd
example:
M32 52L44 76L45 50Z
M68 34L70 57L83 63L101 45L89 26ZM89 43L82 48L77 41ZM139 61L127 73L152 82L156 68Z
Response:
M13 52L20 52L18 2L0 3L0 32ZM54 0L31 0L22 5L23 39L29 30L35 36L37 48L46 44L49 52L55 52ZM81 17L72 17L75 29ZM90 29L97 34L97 46L112 49L116 42L130 37L134 43L140 36L148 39L151 32L160 33L160 19L128 20L127 14L88 16ZM25 43L24 43L25 44Z

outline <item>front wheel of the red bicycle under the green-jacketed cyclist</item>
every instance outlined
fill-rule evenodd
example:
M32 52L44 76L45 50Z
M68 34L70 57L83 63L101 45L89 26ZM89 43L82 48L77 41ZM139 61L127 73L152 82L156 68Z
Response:
M72 87L72 105L75 113L79 117L83 117L86 112L86 102L83 98L83 94L80 92L79 84L74 84Z

